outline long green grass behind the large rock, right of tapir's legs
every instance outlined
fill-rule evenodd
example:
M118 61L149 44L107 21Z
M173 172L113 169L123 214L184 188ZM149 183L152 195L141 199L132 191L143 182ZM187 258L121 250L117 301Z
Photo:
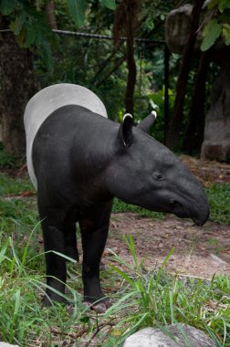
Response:
M122 294L104 315L120 317L114 327L117 345L122 345L127 336L141 328L156 326L167 331L165 325L183 322L209 333L216 346L229 346L230 339L226 335L230 326L229 278L214 277L209 281L167 275L165 266L173 249L161 268L147 271L143 259L137 259L132 237L125 239L133 263L127 263L110 250L118 264L111 268L123 279ZM210 302L215 303L216 310L212 305L209 307ZM219 302L222 302L220 306Z

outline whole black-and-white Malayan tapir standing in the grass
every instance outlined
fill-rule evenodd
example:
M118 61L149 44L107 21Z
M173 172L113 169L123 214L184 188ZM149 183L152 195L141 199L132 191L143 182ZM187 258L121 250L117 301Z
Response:
M152 112L137 126L130 114L120 124L110 121L101 100L73 84L47 87L29 100L26 158L37 189L46 251L45 305L64 300L66 259L57 253L78 260L78 222L84 300L89 305L98 301L94 310L110 306L100 287L99 264L114 196L192 218L198 226L207 220L203 187L173 152L149 135L154 120Z

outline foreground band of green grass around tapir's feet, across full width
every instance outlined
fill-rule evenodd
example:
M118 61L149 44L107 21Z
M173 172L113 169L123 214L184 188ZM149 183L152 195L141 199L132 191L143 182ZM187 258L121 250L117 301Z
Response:
M35 230L34 230L35 232ZM41 309L38 294L45 290L43 268L31 267L33 258L42 262L42 254L28 254L30 234L23 254L18 254L9 237L1 243L0 264L0 338L22 346L83 345L91 339L94 346L121 346L132 332L147 326L162 330L171 323L188 323L205 331L215 345L230 346L230 280L226 276L211 281L178 278L162 268L146 271L137 260L131 237L126 241L133 263L128 264L110 250L110 268L103 275L103 287L109 285L113 305L106 313L97 315L81 303L80 267L68 267L68 298L73 310L60 305ZM11 253L11 258L7 257ZM77 288L78 287L78 288ZM107 329L105 332L105 328ZM80 331L85 331L83 334ZM54 333L52 331L58 331ZM83 332L84 332L83 331ZM74 344L75 343L75 344Z

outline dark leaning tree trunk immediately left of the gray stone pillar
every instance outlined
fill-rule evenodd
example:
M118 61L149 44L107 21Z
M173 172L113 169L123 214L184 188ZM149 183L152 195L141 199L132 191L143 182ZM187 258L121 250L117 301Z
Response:
M198 152L204 140L204 102L205 82L210 62L210 52L202 53L197 73L197 79L193 89L193 98L189 112L187 129L183 138L183 150L189 154Z

